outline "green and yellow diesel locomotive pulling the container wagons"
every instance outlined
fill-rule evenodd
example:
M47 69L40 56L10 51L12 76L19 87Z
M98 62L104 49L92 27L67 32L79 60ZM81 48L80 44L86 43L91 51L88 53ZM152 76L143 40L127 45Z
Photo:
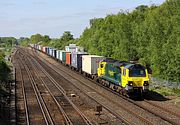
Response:
M123 95L149 90L147 69L141 64L106 58L99 63L98 81Z

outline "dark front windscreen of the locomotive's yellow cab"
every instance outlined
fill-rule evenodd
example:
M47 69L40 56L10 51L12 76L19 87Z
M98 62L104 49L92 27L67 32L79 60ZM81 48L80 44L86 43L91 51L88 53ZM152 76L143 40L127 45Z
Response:
M129 71L129 77L145 77L145 69L132 69Z

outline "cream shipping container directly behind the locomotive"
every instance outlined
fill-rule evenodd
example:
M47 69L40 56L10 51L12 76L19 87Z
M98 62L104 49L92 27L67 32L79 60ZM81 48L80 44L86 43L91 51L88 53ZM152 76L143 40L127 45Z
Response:
M105 59L103 56L97 55L83 55L82 56L82 70L88 74L96 75L98 64Z

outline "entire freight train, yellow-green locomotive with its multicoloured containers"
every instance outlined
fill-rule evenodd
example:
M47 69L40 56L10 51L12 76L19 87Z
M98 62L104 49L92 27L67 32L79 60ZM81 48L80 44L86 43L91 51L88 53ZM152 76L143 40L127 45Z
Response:
M77 48L65 51L37 44L30 46L122 95L143 96L149 90L148 71L141 64L89 55L78 52Z

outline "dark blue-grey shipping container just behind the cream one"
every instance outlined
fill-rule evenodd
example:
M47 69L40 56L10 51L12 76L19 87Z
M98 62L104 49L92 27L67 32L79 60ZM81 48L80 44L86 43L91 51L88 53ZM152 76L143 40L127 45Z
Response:
M76 69L82 69L82 56L88 55L85 52L75 52L71 53L71 66L75 67Z

